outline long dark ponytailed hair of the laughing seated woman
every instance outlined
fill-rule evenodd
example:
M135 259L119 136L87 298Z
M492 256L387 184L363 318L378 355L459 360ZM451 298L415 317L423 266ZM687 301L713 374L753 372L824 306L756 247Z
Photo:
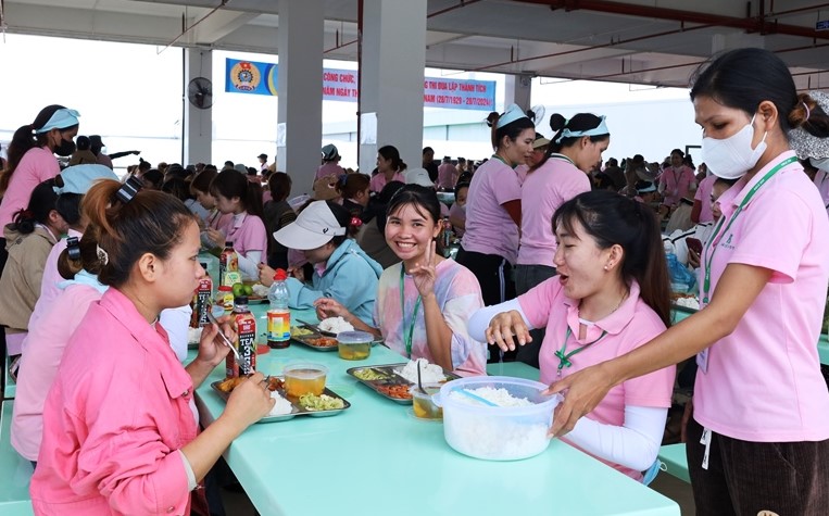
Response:
M670 281L656 216L650 206L608 190L580 193L562 204L553 215L553 231L576 224L596 246L623 249L621 279L628 287L636 279L642 301L670 326Z

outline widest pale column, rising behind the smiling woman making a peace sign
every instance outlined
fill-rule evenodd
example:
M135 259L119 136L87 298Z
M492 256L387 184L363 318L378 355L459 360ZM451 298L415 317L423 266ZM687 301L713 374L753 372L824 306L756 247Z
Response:
M360 171L366 174L385 144L397 147L410 168L420 166L426 4L364 0L360 113L377 114L376 142L360 144ZM367 125L361 128L363 140L373 133Z

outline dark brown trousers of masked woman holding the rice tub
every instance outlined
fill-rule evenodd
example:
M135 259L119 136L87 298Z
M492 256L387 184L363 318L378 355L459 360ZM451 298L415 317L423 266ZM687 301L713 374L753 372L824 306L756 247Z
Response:
M692 418L686 455L698 515L829 513L829 440L750 442L712 432L708 468L703 469L702 432Z

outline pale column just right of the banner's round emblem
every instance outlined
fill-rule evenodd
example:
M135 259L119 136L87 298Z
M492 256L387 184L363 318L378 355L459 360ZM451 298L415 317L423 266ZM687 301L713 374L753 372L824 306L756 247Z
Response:
M323 2L279 0L276 169L311 191L323 139Z

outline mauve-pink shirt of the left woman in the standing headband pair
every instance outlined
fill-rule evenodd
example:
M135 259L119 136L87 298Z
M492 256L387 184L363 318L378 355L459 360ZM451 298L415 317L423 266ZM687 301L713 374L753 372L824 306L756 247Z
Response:
M497 158L482 164L466 196L466 251L497 254L514 264L518 257L518 226L503 204L522 198L515 171Z

